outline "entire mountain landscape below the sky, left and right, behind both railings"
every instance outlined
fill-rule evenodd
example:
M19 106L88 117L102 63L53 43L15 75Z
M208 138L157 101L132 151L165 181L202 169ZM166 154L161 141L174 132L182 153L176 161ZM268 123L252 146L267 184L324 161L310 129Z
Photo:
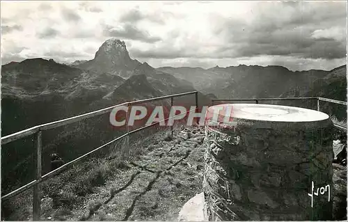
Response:
M346 100L346 72L346 65L331 71L302 72L258 65L156 69L130 58L125 42L112 38L90 61L61 64L32 58L2 65L1 136L121 102L193 90L199 91L200 106L211 104L216 97L323 96ZM152 104L168 106L169 101ZM194 105L194 95L175 98L175 104ZM345 116L341 113L340 117ZM65 160L74 159L118 134L108 115L45 132L44 171L48 171L51 152L58 152ZM33 179L32 137L4 145L1 150L2 190L6 193Z

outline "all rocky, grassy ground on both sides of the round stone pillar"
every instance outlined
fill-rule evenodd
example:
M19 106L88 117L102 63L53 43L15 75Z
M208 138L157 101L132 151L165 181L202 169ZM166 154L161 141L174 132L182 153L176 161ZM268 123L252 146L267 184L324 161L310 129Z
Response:
M157 136L150 145L144 145L141 154L123 161L117 167L112 160L102 160L109 167L109 176L93 186L82 185L88 180L77 180L77 171L54 177L48 186L43 184L44 221L173 221L188 200L202 192L204 171L204 131L198 127L177 129L173 139ZM100 162L79 164L79 174L90 173ZM347 219L347 168L333 164L333 214L335 220ZM72 176L74 175L74 176ZM99 177L100 174L92 174ZM69 182L68 182L69 181ZM71 187L69 184L74 184ZM76 185L79 184L79 185ZM90 189L89 187L93 187ZM54 188L54 191L52 190ZM75 190L75 191L72 191ZM21 206L10 220L31 220L32 191L27 198L17 200ZM56 193L56 196L47 193Z

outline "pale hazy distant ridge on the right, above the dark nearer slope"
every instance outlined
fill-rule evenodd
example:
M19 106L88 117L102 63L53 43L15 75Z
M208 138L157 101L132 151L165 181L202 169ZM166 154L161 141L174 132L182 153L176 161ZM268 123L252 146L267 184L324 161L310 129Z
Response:
M331 71L308 70L290 71L282 66L238 65L227 68L158 68L162 72L173 74L178 79L190 81L203 93L214 93L220 98L280 97L292 93L305 94L313 91L319 82L322 89L331 81L347 82L347 65ZM319 88L320 88L319 87ZM291 93L292 92L292 93ZM343 95L343 97L342 97ZM346 93L326 95L326 97L346 100Z

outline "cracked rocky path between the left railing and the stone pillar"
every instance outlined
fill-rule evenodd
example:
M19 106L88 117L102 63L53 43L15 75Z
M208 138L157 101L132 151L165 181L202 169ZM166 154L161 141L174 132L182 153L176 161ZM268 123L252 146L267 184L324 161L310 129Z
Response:
M43 198L42 220L176 220L184 203L202 191L204 132L184 129L173 138L149 145L71 210L54 209L53 198Z

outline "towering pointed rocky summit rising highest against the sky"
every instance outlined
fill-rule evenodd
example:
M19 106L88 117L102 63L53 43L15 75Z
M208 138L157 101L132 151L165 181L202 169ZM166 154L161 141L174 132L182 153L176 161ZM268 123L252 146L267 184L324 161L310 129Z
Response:
M76 66L97 73L116 74L127 79L140 64L139 61L129 57L124 41L111 38L100 46L92 60Z

